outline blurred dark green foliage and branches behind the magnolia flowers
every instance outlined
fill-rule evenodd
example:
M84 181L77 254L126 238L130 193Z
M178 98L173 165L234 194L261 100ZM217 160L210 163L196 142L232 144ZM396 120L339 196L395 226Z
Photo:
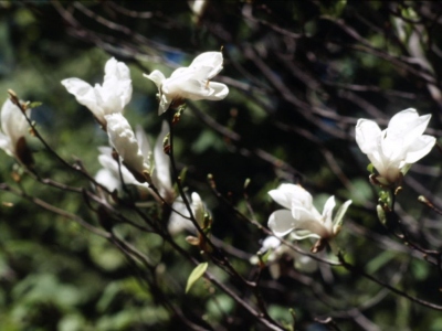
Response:
M213 81L227 84L229 96L189 102L175 143L185 185L207 204L212 235L239 274L253 278L257 267L249 258L265 234L232 206L265 226L280 209L267 191L299 183L319 211L333 194L338 205L354 201L337 238L349 261L441 305L440 261L428 263L380 224L380 189L369 183L369 161L355 142L359 118L385 128L409 107L432 114L427 134L441 136L441 15L438 1L1 1L0 95L6 100L11 88L41 102L32 119L44 139L94 175L107 136L62 79L102 84L109 57L125 62L134 86L125 116L156 139L165 115L158 116L157 87L143 73L168 76L202 52L222 51L224 68ZM39 142L31 148L42 177L91 189ZM15 183L14 160L2 151L0 158L0 182L98 224L81 195L27 175ZM434 148L411 168L397 205L412 241L435 250L440 216L417 199L442 209L440 166ZM211 191L209 173L228 203ZM0 192L0 200L1 330L187 330L112 243L27 199ZM158 288L201 330L266 330L207 281L185 295L192 266L160 236L118 231L156 261L158 275L168 275ZM178 234L177 243L198 256L185 237ZM299 245L308 250L312 243ZM272 318L287 328L293 309L296 330L442 330L440 312L360 275L326 264L313 271L293 268L291 259L285 265L277 279L264 269L260 288ZM231 276L217 276L251 298ZM322 322L329 317L334 323Z

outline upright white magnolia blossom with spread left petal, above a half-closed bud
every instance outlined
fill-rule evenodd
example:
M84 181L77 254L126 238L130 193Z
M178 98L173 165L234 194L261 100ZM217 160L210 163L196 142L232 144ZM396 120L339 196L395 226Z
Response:
M95 118L105 128L105 115L122 113L131 98L131 81L129 68L123 62L114 57L106 62L104 67L103 85L95 84L92 87L80 78L62 81L67 92L73 94L76 100L90 108Z

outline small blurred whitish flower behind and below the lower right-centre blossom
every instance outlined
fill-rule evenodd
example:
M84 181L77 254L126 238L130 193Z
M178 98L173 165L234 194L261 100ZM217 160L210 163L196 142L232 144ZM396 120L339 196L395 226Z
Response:
M317 261L311 258L307 255L301 254L291 247L283 245L280 238L275 236L266 237L261 246L261 249L257 254L263 255L270 250L270 254L266 258L269 263L269 271L273 279L277 279L281 276L281 265L280 260L284 256L288 256L293 259L293 266L302 271L313 273L317 269ZM251 258L251 263L256 265L259 263L259 257L253 256Z

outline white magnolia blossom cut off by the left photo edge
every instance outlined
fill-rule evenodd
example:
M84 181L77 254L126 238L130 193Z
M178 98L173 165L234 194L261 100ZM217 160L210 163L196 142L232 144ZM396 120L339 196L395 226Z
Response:
M31 115L31 109L27 110L27 116ZM10 99L7 99L0 113L1 131L0 148L9 156L21 159L20 143L28 134L29 124L22 111Z

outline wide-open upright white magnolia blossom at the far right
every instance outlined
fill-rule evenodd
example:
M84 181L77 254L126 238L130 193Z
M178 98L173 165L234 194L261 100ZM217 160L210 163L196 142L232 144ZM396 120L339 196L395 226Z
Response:
M431 115L419 116L415 109L408 108L396 114L382 131L372 120L358 120L356 142L378 171L381 184L396 183L411 163L433 148L435 138L422 135L430 118Z

